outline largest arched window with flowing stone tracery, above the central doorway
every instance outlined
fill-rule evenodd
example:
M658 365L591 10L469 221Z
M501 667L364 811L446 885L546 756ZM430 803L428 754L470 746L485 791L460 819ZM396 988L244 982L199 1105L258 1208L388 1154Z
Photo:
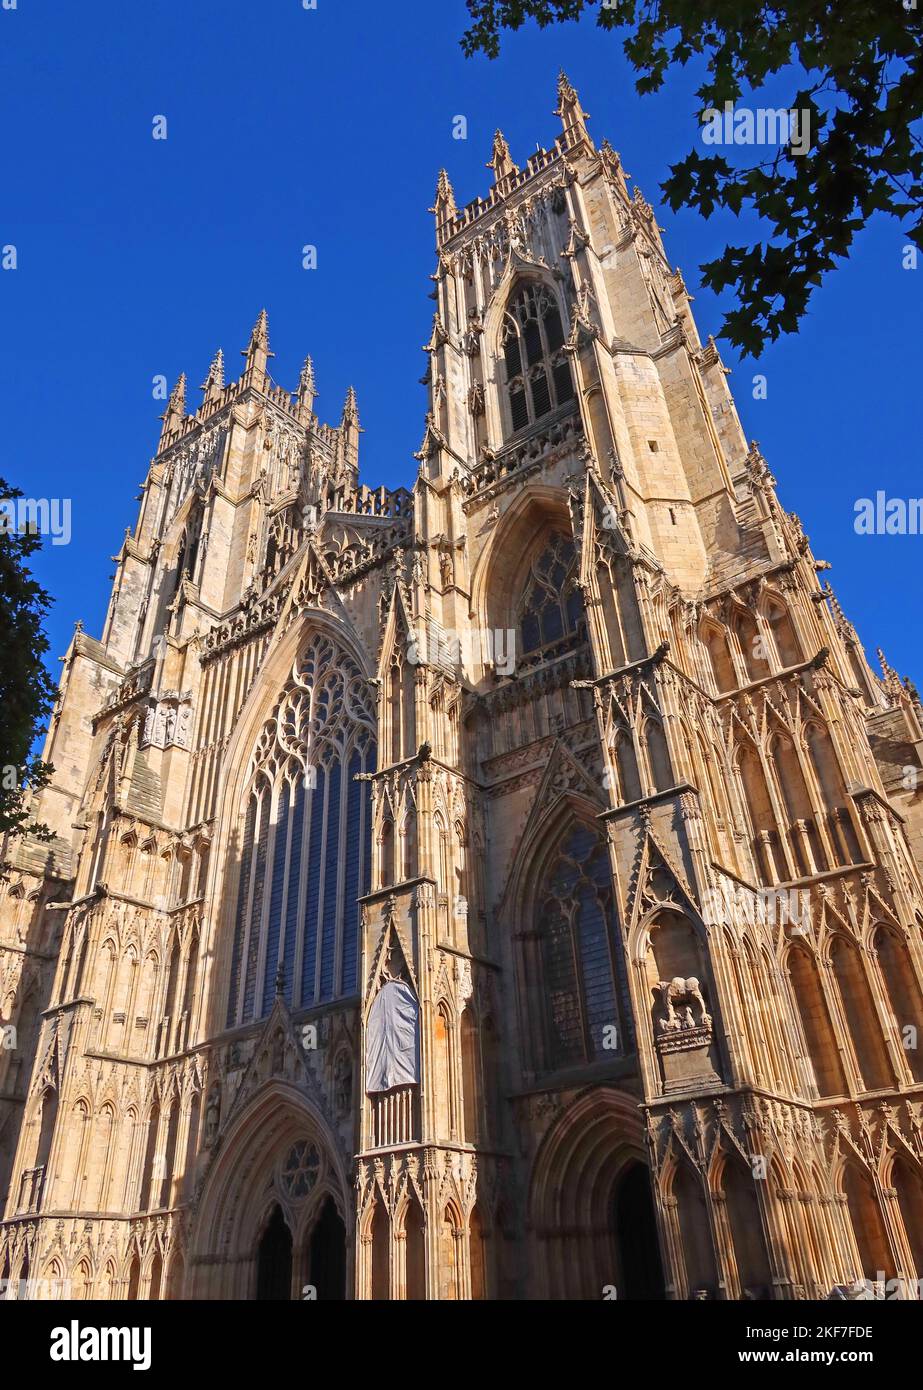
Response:
M368 682L316 634L250 764L228 1027L264 1017L278 987L292 1008L356 991L371 865L370 785L356 776L374 767Z

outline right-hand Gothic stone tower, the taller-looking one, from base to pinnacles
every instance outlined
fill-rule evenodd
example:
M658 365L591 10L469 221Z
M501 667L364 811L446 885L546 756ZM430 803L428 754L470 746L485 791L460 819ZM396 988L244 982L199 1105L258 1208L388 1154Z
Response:
M863 1134L909 1141L923 1074L915 812L879 762L919 702L870 671L651 204L557 97L550 150L520 167L498 131L487 195L442 171L432 208L364 974L368 1013L418 999L420 1084L366 1095L360 1294L909 1277L919 1179L888 1195Z

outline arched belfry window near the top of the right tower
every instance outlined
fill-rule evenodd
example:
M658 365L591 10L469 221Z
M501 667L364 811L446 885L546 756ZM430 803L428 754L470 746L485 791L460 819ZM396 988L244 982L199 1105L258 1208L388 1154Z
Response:
M510 300L500 346L513 431L574 399L560 309L545 285L527 285Z

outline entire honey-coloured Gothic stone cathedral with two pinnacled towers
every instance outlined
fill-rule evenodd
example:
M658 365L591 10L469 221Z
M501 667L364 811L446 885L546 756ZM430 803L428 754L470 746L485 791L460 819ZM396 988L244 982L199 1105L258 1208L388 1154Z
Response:
M4 851L8 1297L917 1297L923 709L555 115L439 175L410 488L266 313L170 395Z

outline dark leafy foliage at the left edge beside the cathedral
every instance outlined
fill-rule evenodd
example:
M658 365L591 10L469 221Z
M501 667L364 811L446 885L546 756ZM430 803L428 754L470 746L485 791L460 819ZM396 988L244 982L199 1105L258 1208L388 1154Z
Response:
M0 499L21 498L0 478ZM26 830L40 840L50 833L29 824L28 794L43 787L53 769L31 752L54 702L44 667L49 644L42 630L50 595L32 578L26 560L42 546L35 530L17 531L4 513L0 525L0 834Z

